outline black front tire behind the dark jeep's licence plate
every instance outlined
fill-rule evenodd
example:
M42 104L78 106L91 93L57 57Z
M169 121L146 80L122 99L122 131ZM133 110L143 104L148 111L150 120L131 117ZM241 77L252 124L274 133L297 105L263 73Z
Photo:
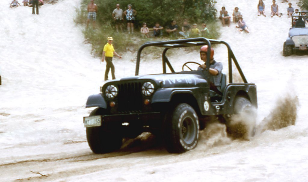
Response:
M90 116L105 115L106 110L103 108L96 108ZM122 145L122 137L116 132L107 131L100 127L87 127L87 141L91 150L95 154L105 154L114 150L120 149Z

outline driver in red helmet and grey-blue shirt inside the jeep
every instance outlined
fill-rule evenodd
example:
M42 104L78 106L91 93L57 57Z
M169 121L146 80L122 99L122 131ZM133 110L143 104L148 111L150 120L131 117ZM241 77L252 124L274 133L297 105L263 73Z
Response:
M200 48L200 58L204 61L204 64L200 65L198 70L205 70L206 68L206 58L207 58L207 51L208 46L202 46ZM222 95L221 91L217 88L221 86L221 71L222 71L222 64L220 62L216 62L214 60L214 49L211 47L211 55L210 55L210 68L209 72L212 75L209 80L210 89L215 91L216 93Z

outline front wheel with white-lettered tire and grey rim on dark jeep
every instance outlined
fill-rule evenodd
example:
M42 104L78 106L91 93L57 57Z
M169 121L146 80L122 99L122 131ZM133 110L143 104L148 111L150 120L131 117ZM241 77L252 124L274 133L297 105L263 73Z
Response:
M166 114L163 125L164 145L169 153L183 153L197 146L199 120L188 104L178 104Z

